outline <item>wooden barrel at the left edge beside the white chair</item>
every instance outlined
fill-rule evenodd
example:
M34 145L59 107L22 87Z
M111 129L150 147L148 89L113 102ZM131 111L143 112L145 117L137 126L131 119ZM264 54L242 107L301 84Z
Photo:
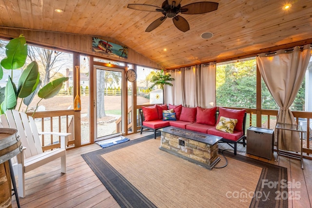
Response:
M12 208L11 176L8 160L22 150L16 129L0 128L0 208Z

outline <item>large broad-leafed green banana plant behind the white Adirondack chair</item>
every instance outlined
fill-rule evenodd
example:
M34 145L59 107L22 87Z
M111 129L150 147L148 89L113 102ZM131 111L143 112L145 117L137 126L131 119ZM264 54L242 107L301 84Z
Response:
M28 55L25 37L20 35L19 38L11 39L5 49L6 57L0 62L0 80L3 77L3 68L12 70L12 73L11 76L8 76L6 86L0 88L0 114L3 114L6 110L16 109L18 98L22 99L20 105L23 102L28 107L37 92L41 98L39 102L42 99L51 98L59 93L63 82L68 80L68 77L61 77L49 82L40 89L39 67L38 63L33 61L22 72L18 86L16 86L12 77L13 70L23 67Z

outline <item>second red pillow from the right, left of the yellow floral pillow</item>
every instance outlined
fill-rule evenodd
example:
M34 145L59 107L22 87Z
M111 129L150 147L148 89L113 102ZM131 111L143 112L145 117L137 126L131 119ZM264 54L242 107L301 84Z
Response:
M215 112L216 107L213 108L200 108L196 107L196 123L207 124L210 126L215 126Z

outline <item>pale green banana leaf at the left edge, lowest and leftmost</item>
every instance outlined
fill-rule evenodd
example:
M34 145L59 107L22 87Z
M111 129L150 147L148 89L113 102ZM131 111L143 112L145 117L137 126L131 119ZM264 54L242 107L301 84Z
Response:
M1 110L5 112L6 110L15 109L17 105L16 87L10 76L5 86L4 95L5 98L1 103Z

